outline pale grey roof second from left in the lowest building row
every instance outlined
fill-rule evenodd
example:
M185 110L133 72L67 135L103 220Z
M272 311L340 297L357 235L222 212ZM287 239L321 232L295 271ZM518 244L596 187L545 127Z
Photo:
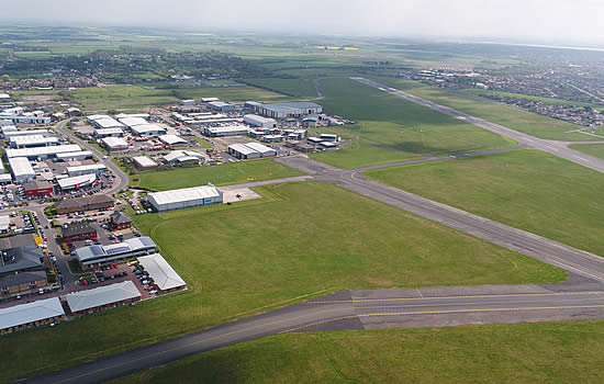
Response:
M141 292L130 280L92 290L68 293L66 296L71 312L96 308L136 297L141 297Z

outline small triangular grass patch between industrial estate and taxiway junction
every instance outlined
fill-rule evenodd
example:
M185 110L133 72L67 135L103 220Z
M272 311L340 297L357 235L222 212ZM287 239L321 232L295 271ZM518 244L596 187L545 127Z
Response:
M350 143L347 144L346 149L309 154L309 156L314 160L340 169L377 166L420 158L418 156L380 148L362 139L351 139Z

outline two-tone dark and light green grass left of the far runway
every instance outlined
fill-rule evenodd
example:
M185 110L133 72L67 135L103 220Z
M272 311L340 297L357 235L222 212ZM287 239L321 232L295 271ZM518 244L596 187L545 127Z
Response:
M346 129L350 135L417 154L515 145L500 135L347 78L323 79L321 86L325 92L321 103L328 113L359 122Z

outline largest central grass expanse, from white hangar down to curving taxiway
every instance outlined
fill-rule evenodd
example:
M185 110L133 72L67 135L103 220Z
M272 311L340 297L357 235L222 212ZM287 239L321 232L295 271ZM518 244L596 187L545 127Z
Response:
M132 349L322 291L567 279L553 267L335 185L256 191L264 199L133 216L190 290L3 336L2 379Z

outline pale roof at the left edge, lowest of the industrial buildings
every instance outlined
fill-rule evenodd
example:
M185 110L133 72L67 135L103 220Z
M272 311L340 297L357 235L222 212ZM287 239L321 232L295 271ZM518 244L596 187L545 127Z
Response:
M0 329L65 315L58 297L38 300L0 309Z

